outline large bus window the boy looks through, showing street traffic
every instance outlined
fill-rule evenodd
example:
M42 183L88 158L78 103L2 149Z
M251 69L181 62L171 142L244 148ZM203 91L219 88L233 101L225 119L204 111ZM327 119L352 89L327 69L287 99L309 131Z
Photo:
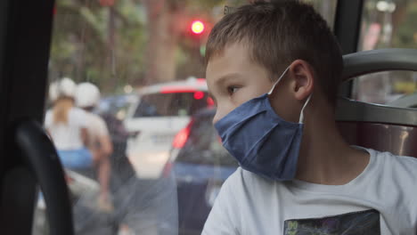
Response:
M337 1L305 1L332 26ZM205 45L249 2L56 1L45 128L76 234L200 234L238 167L212 126ZM34 234L48 234L46 221L40 194Z

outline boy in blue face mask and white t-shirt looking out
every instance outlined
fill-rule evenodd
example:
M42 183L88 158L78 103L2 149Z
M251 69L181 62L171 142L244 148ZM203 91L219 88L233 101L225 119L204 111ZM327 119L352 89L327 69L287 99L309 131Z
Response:
M343 61L310 5L242 6L213 28L206 59L213 122L241 167L202 234L415 234L417 160L340 136Z

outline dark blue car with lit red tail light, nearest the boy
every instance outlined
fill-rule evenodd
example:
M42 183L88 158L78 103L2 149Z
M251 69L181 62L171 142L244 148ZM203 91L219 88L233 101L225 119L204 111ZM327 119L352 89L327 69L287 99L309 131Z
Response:
M202 109L176 134L164 176L174 174L180 234L200 234L226 178L238 163L212 125L215 109Z

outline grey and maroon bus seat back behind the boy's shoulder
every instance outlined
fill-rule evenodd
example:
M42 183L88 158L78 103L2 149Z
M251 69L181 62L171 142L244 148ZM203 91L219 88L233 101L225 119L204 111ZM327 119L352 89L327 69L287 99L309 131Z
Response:
M417 71L417 50L412 49L352 53L343 60L343 81L379 71ZM349 144L417 158L417 109L339 98L336 122Z

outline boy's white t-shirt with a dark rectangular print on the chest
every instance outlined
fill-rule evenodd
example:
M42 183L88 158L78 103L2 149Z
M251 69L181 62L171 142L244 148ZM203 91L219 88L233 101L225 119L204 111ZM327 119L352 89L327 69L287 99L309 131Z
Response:
M416 234L417 159L368 151L364 172L345 185L274 182L238 168L202 234Z

